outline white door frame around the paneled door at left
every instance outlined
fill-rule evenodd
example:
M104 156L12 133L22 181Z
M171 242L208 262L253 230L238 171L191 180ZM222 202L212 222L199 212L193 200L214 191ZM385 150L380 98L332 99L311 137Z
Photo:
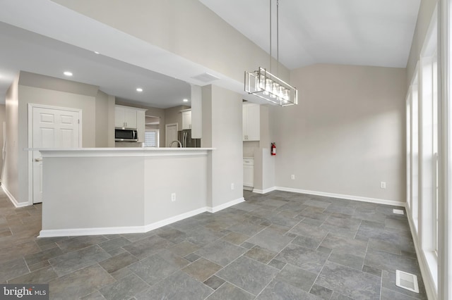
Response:
M63 106L50 106L44 104L28 104L28 205L33 205L33 153L30 149L33 146L33 108L49 108L57 109L59 111L72 111L78 113L80 122L78 123L78 144L83 147L82 144L82 124L83 116L81 108L71 108Z

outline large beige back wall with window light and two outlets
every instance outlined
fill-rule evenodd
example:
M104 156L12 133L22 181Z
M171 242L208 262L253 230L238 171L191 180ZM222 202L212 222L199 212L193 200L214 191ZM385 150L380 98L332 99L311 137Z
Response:
M270 108L275 184L405 201L405 69L311 65L291 78L299 104Z

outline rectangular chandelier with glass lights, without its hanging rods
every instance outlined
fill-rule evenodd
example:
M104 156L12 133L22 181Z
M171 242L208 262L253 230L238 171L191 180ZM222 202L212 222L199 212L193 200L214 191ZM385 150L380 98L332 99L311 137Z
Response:
M280 106L298 104L297 89L261 67L251 73L245 71L245 92Z

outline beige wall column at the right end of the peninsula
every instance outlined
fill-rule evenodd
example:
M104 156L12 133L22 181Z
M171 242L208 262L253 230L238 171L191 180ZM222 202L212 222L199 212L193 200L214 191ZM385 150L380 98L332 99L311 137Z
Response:
M208 171L208 206L243 197L242 96L215 85L202 89L202 147L213 147ZM231 184L234 189L231 189Z

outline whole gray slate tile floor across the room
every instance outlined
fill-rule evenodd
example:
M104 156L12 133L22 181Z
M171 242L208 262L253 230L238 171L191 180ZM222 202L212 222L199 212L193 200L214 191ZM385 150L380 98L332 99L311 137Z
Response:
M0 194L0 282L51 299L427 299L405 216L290 192L152 232L37 239L41 205ZM415 273L420 294L395 285Z

